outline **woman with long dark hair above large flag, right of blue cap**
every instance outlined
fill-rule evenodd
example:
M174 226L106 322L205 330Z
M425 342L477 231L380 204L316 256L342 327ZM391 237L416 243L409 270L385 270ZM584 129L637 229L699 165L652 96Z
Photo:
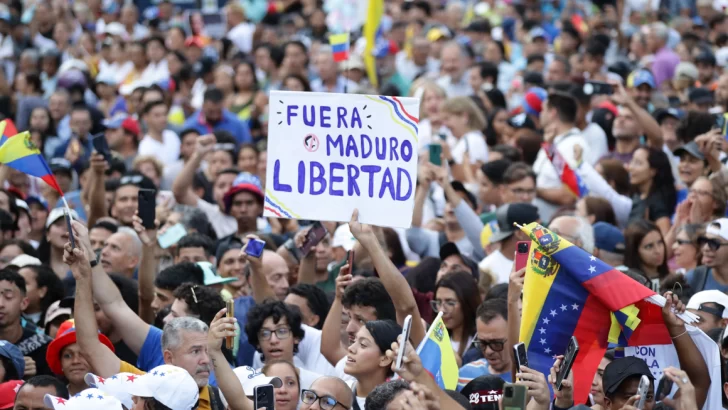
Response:
M631 222L624 230L624 242L625 266L639 271L659 286L670 270L665 241L657 225L647 220Z

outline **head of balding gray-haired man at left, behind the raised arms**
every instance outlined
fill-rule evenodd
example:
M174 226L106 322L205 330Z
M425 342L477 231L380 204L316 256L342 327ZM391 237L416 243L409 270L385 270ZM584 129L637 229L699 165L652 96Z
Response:
M131 279L137 274L141 258L142 241L133 229L122 226L106 240L99 262L104 272Z

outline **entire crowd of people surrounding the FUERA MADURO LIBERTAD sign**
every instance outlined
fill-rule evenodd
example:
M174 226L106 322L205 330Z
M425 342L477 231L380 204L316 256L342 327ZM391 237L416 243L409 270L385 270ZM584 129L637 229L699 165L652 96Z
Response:
M728 409L723 1L386 1L342 62L366 1L208 3L0 4L0 142L65 193L0 165L0 410ZM272 90L418 98L411 227L352 210L304 254L316 221L263 217ZM516 365L533 222L665 295L674 365ZM440 313L453 389L416 352Z

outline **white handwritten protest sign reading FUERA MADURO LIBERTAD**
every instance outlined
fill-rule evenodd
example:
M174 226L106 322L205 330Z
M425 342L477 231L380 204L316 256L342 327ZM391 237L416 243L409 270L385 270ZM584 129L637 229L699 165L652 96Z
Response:
M264 216L408 228L419 100L272 91Z

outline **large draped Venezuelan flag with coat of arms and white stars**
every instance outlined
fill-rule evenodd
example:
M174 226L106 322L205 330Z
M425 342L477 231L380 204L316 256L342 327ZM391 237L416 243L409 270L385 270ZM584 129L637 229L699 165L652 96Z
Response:
M531 367L548 374L555 356L564 354L571 336L576 337L580 348L572 368L576 402L584 403L589 395L610 333L630 345L671 341L660 307L645 300L655 295L651 289L538 223L521 230L533 243L523 288L520 341L526 344ZM627 325L632 327L621 327ZM638 333L642 337L636 337Z

